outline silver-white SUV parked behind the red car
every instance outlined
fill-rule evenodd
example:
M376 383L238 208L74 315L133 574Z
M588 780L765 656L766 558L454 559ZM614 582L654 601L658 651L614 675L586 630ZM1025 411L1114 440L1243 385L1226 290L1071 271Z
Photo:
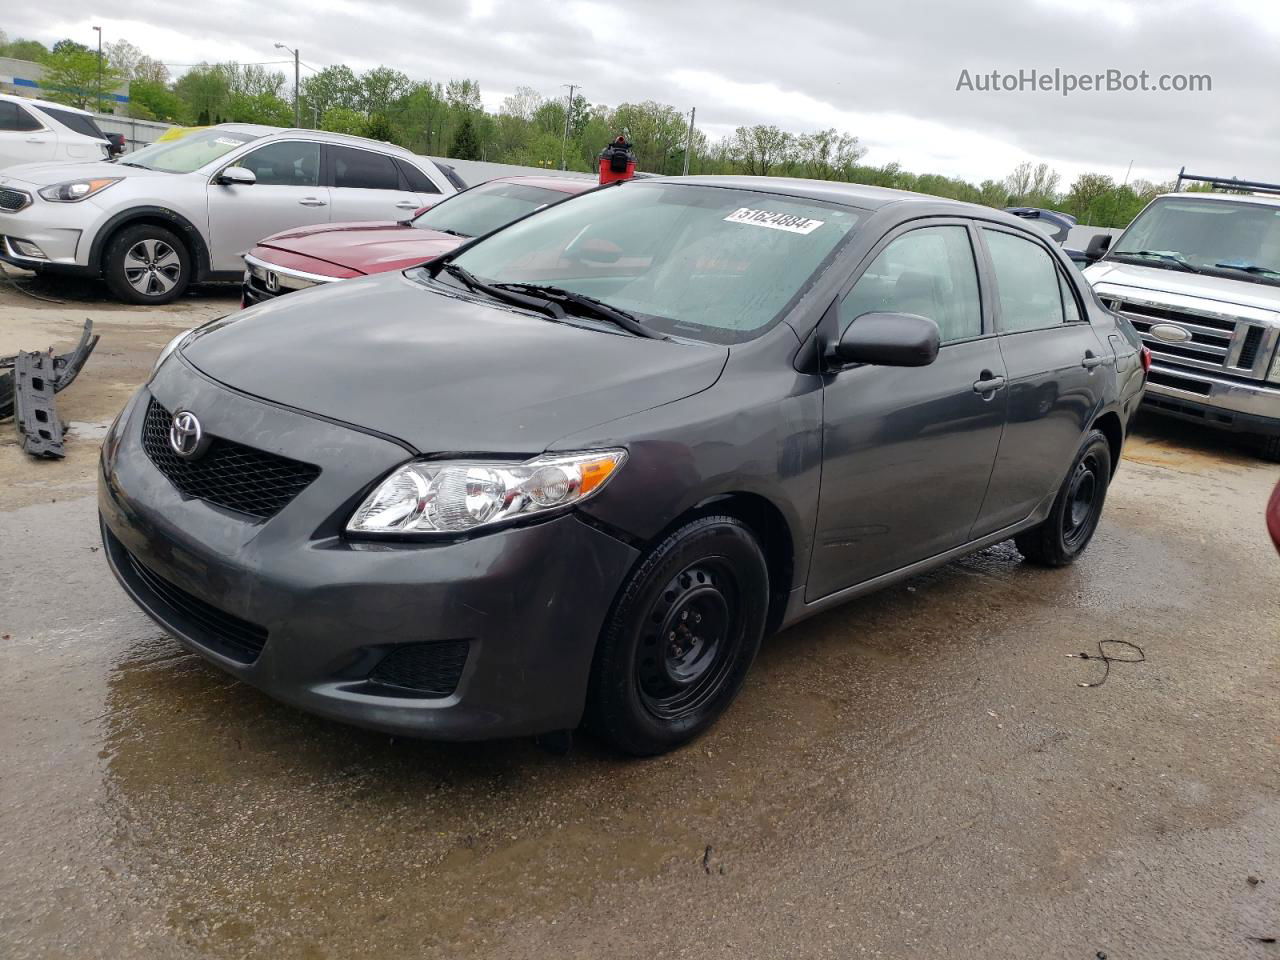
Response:
M429 159L362 137L224 123L113 163L0 173L0 260L102 276L131 303L238 280L242 255L292 227L407 220L454 192Z

